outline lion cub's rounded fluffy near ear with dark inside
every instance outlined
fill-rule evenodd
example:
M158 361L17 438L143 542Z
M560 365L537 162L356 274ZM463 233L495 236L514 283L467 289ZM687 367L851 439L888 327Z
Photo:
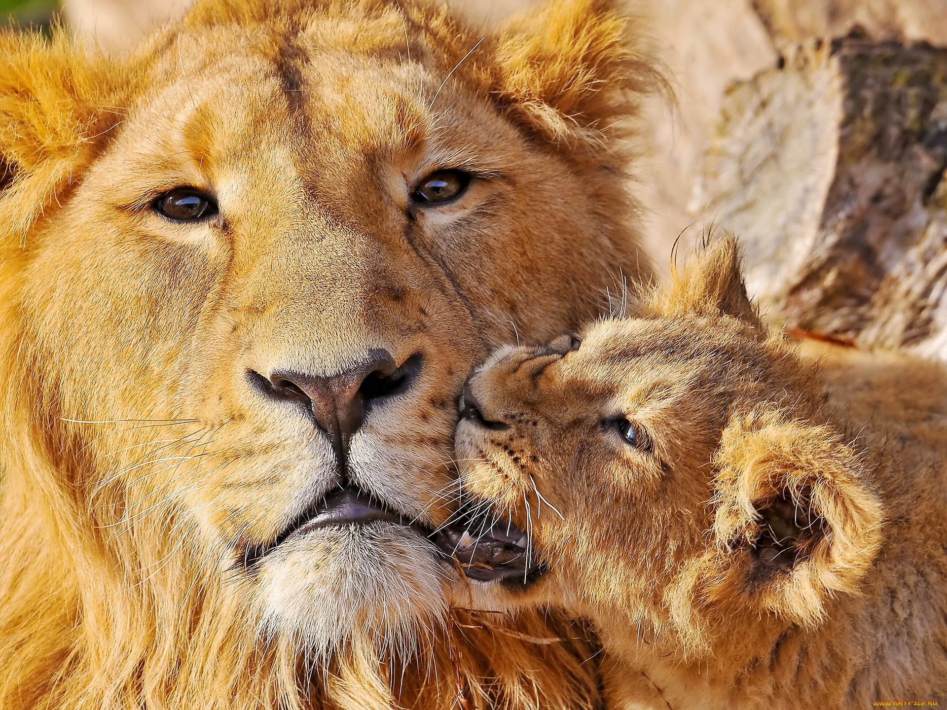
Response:
M859 456L826 426L743 419L725 430L706 598L813 624L857 593L882 539L882 506Z

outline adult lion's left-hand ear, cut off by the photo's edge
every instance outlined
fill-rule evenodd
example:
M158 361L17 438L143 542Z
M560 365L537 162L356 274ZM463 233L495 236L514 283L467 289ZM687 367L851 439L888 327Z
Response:
M121 116L109 62L63 30L0 30L0 234L18 241Z

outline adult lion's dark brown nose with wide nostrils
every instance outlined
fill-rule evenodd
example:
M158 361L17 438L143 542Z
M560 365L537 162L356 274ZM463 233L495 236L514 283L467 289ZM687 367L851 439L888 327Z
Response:
M348 453L348 440L362 426L366 413L408 389L420 366L420 353L399 365L387 350L373 349L364 362L329 375L275 369L269 377L251 371L251 379L268 399L301 402L311 409L341 461Z

